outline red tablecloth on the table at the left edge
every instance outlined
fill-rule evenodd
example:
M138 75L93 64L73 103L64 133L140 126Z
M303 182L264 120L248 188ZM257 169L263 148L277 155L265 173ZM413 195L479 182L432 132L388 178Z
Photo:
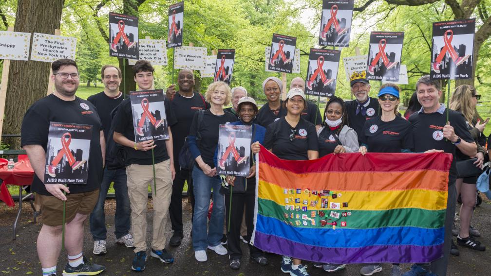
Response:
M19 162L15 163L12 171L7 170L7 164L0 160L0 179L3 182L0 184L0 200L8 206L15 206L12 196L10 195L6 184L26 186L32 183L34 171L30 165L29 159L19 156Z

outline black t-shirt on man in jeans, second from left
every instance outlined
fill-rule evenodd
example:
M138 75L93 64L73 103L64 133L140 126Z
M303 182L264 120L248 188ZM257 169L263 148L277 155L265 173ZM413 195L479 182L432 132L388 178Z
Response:
M123 98L122 93L119 94L118 98L109 98L104 91L87 98L87 100L92 102L95 108L97 108L97 114L99 114L99 117L101 118L102 130L104 131L104 138L106 141L108 140L109 128L111 128L111 111L124 100Z

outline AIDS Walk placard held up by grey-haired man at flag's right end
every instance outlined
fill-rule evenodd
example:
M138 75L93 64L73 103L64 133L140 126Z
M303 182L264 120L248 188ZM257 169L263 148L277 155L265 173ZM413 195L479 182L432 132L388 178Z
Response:
M433 23L432 79L472 78L476 19Z

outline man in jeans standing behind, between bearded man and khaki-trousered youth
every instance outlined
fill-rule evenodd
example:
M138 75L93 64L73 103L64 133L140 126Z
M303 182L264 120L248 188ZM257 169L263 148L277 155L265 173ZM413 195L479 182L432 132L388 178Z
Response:
M87 100L92 102L97 108L97 114L102 121L104 138L107 143L109 129L112 121L112 110L123 101L123 93L119 91L121 83L121 70L114 65L104 65L101 69L101 79L104 83L104 91L90 96ZM112 138L111 138L112 139ZM90 232L94 239L94 254L106 253L107 228L104 214L104 201L108 195L109 185L114 182L114 193L116 195L116 212L114 215L114 234L116 242L126 247L133 247L133 236L130 231L130 199L128 198L128 187L126 186L126 172L124 169L108 170L104 169L103 180L101 183L101 192L99 201L90 214Z

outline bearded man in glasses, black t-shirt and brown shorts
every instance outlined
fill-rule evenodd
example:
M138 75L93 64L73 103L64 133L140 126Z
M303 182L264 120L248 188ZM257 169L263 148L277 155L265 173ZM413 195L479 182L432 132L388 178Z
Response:
M21 129L21 146L26 150L35 173L32 191L36 192L36 201L40 203L43 214L43 226L36 243L37 253L43 275L56 275L56 262L62 240L63 201L66 201L65 248L68 252L68 264L63 274L96 275L104 271L105 267L89 263L82 254L82 241L84 222L99 196L104 167L104 133L94 105L75 96L79 87L77 63L71 59L58 59L51 64L51 68L51 81L55 83L55 91L29 107ZM49 151L47 145L50 122L92 125L87 184L43 184L48 167L46 154ZM63 154L63 160L67 158L65 155ZM64 195L63 192L67 194Z

